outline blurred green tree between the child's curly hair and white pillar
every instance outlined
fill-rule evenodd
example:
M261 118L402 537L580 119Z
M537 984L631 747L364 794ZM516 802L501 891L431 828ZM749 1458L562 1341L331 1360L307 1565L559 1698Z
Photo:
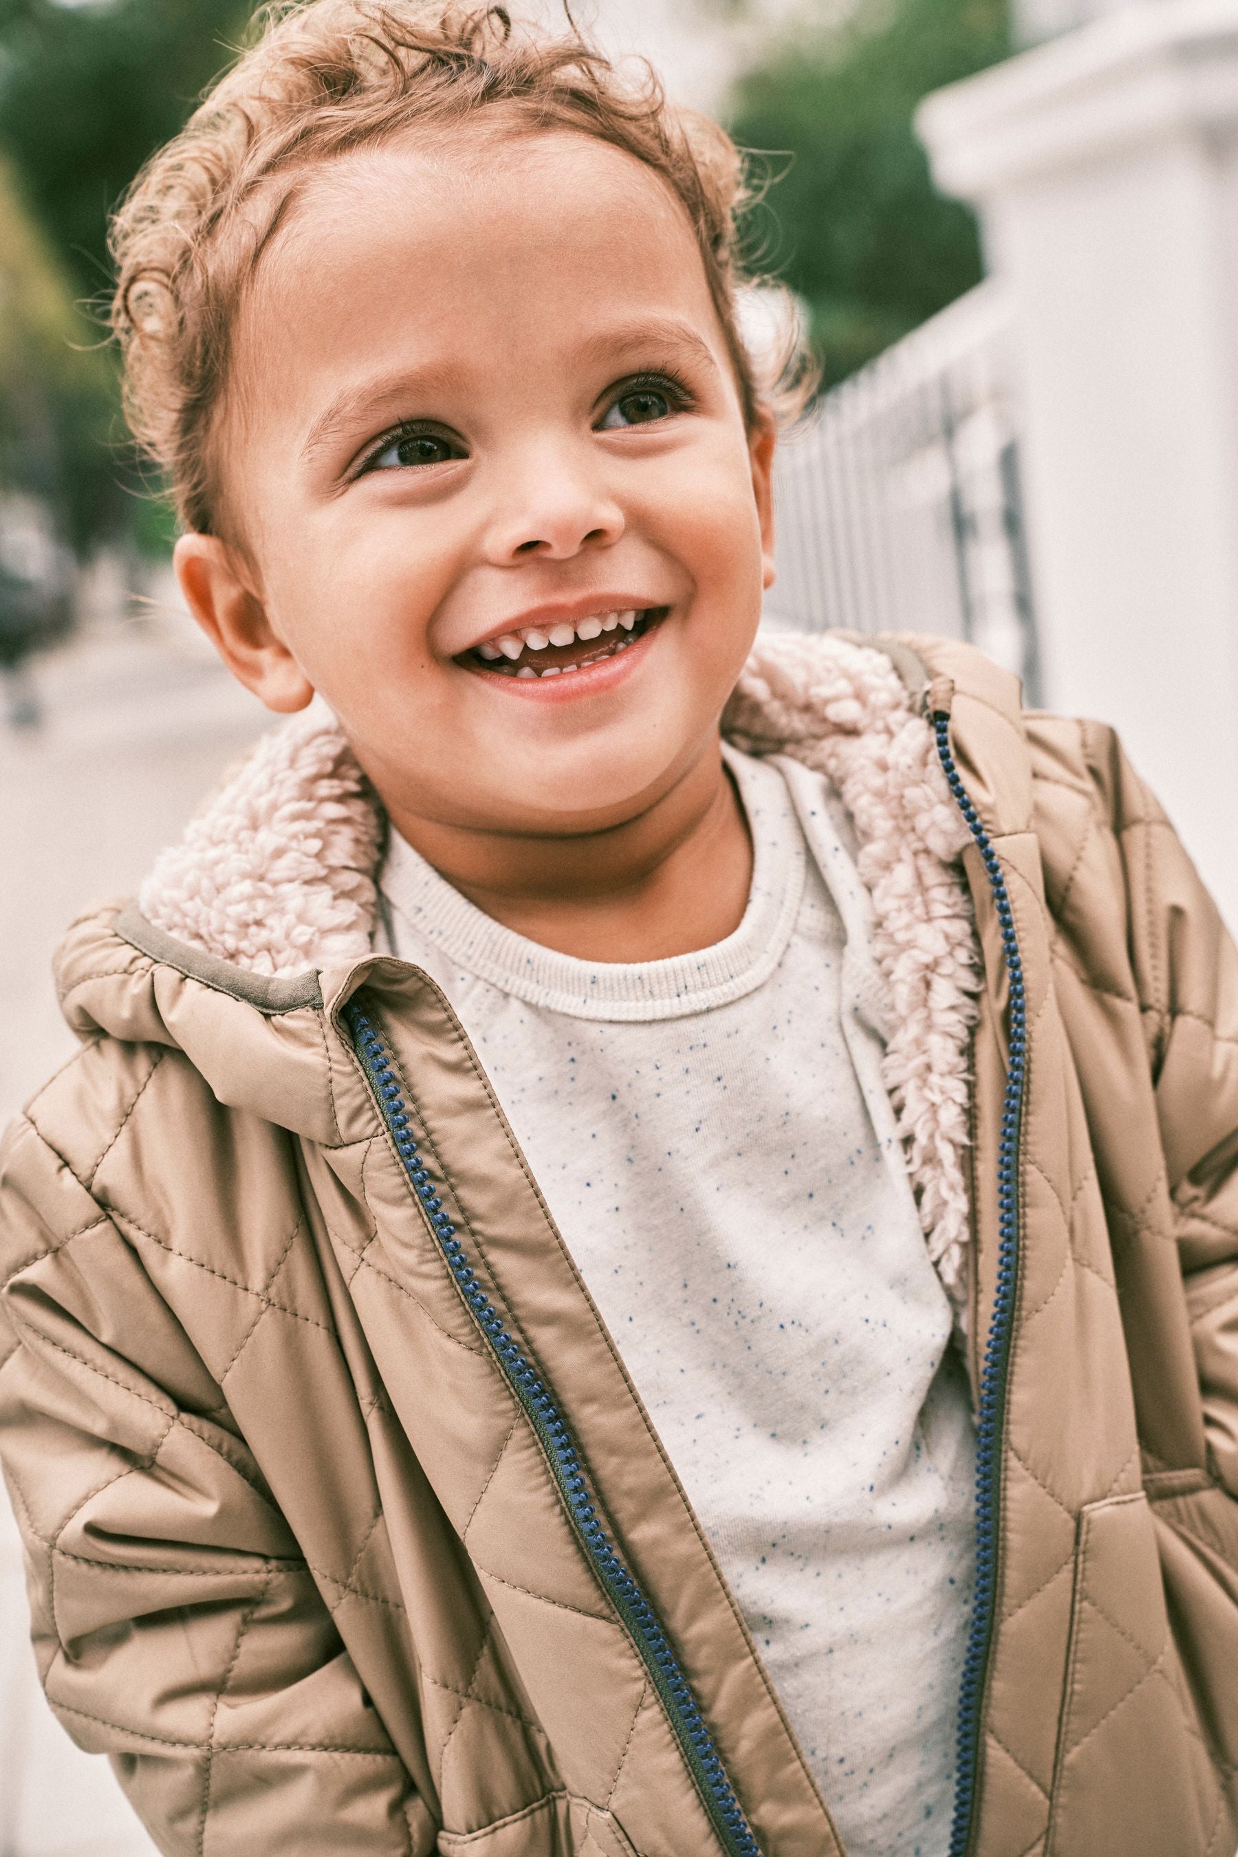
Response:
M806 299L826 384L980 280L974 215L934 189L911 115L1012 48L1008 0L859 0L737 84L729 128L772 176L750 236Z

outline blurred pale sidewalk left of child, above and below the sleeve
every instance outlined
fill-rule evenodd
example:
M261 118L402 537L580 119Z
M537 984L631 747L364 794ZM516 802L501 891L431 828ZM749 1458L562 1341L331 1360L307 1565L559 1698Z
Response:
M0 722L0 1123L76 1047L50 956L89 903L135 890L271 721L184 615L104 622L33 667L39 728ZM150 1857L108 1764L52 1720L0 1495L0 1857Z

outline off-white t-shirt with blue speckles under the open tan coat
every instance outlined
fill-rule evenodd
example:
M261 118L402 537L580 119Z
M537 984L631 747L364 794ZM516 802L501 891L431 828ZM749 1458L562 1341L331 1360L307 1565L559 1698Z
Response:
M967 1385L880 1081L846 815L794 761L728 765L755 858L724 941L574 960L397 836L388 936L473 1038L848 1857L943 1857Z

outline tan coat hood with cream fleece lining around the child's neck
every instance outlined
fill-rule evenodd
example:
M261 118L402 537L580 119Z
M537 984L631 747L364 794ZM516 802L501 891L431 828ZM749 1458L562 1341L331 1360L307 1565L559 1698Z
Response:
M980 958L960 852L969 839L922 713L934 669L1017 685L945 641L763 637L724 717L752 754L824 773L854 821L889 988L883 1077L941 1278L965 1304L969 1032ZM934 700L948 708L937 678ZM945 696L943 696L945 691ZM414 969L373 956L386 823L325 704L262 739L184 838L156 860L137 904L110 904L58 956L65 1016L84 1038L180 1047L219 1101L312 1140L347 1138L364 1114L334 1010L362 979L395 990ZM418 975L419 984L429 984Z

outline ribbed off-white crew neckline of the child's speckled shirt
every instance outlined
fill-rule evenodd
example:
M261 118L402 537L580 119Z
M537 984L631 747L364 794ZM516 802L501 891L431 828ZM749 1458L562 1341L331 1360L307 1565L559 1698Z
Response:
M406 925L466 973L529 1005L579 1019L674 1019L755 992L791 940L807 873L807 847L778 767L739 754L726 760L748 817L754 869L748 906L733 934L668 960L590 962L529 941L462 897L392 828L380 890Z

